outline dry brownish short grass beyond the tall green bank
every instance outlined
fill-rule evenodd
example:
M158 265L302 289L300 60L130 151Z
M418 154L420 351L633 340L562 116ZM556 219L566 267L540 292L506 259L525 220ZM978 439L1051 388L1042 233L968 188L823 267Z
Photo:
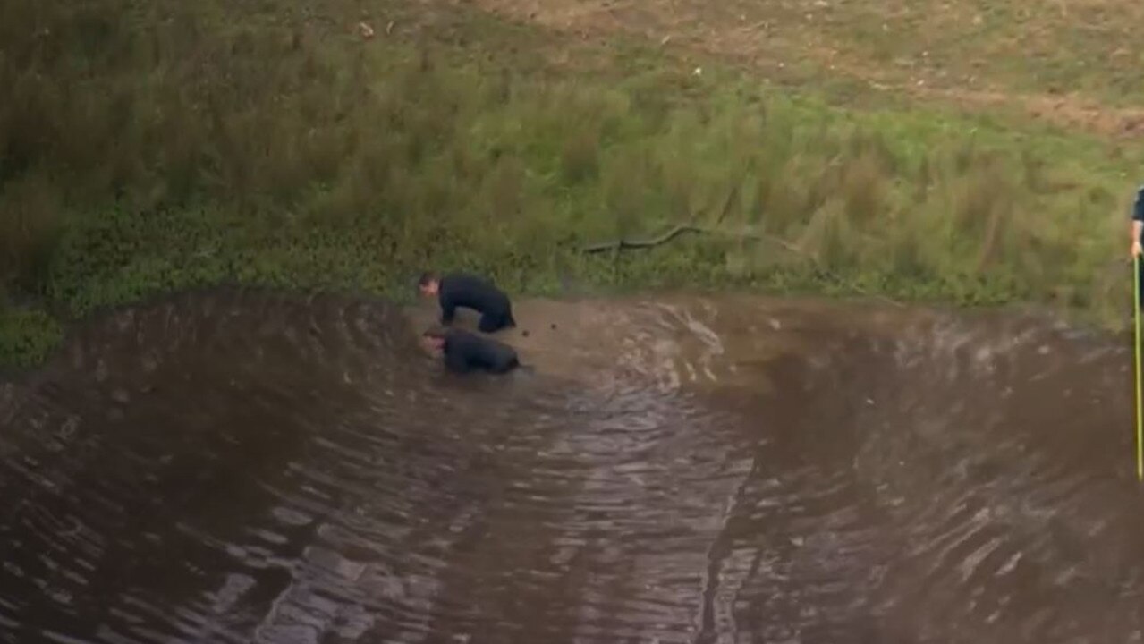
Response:
M1144 5L1130 0L475 0L562 32L745 62L782 82L845 82L1135 137Z

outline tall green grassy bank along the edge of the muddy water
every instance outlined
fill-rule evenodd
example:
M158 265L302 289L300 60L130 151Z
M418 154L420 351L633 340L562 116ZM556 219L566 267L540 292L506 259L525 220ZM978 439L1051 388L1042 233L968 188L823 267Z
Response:
M749 285L1104 320L1130 297L1139 152L906 101L848 110L476 10L5 3L0 84L6 365L158 291L403 297L426 267L521 294ZM677 223L705 232L580 252Z

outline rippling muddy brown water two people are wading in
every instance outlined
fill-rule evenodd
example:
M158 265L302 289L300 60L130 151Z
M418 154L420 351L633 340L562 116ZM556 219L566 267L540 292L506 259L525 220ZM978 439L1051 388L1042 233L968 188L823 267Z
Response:
M455 377L431 315L183 295L0 384L0 642L1144 641L1126 347L535 301Z

